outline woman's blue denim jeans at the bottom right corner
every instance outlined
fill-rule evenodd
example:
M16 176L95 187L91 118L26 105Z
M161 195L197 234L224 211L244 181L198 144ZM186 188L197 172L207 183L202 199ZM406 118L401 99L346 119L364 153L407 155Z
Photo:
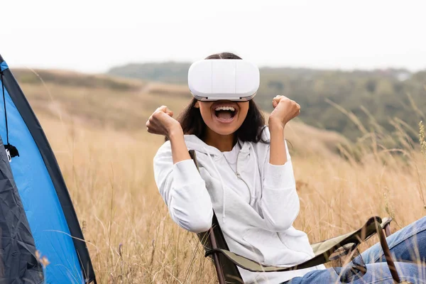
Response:
M396 231L386 240L401 280L407 280L411 283L426 283L426 217L422 217ZM393 284L388 264L379 243L361 253L361 256L366 263L367 272L351 283ZM422 261L422 264L419 264L418 261ZM300 283L339 283L339 275L334 271L334 268L328 268L311 271L302 277L296 277L285 282L285 284Z

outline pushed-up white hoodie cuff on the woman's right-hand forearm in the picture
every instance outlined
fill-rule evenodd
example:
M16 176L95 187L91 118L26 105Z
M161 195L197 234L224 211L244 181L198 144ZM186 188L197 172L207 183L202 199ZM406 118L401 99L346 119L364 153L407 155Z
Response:
M288 160L284 165L266 164L265 187L271 190L289 189L295 187L293 165Z

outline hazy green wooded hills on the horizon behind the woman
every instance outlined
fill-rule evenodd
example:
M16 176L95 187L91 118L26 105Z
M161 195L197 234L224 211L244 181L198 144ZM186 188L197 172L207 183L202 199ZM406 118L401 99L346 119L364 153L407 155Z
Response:
M178 62L131 64L113 67L108 74L186 86L189 66ZM300 119L306 124L338 131L352 140L371 131L392 134L395 121L415 139L413 130L425 120L426 71L261 68L256 102L271 111L271 100L277 94L302 106ZM358 121L354 123L354 119Z

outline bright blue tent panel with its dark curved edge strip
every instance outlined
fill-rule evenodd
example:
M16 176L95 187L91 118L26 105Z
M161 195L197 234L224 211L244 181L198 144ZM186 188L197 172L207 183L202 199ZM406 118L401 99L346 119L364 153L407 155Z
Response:
M0 62L3 70L7 65L1 56ZM9 143L19 151L10 166L35 247L50 262L44 269L45 283L96 283L87 244L55 155L11 70L6 67L2 72L9 133L1 99L0 136L5 141L9 134Z

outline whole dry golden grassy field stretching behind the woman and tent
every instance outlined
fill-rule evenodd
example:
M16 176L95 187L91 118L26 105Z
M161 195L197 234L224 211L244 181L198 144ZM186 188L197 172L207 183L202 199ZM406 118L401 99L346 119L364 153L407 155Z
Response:
M98 282L216 283L197 236L171 221L153 180L163 138L146 133L146 119L161 104L178 112L188 100L185 90L22 78L65 176ZM295 227L311 242L357 229L373 215L393 217L393 231L425 215L420 148L383 149L378 136L366 135L341 148L342 158L337 143L346 142L337 133L295 121L288 136L301 201Z

